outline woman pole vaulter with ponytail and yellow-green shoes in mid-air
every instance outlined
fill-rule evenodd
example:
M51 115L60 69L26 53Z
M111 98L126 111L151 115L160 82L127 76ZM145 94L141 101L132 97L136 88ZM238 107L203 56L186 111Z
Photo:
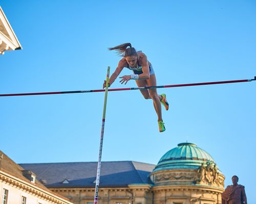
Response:
M109 48L109 50L116 50L117 53L122 57L115 72L110 77L109 86L116 80L124 67L132 70L134 74L123 75L120 77L121 84L126 84L130 80L135 80L138 87L157 86L156 75L152 64L147 61L146 55L141 51L137 52L136 49L132 47L131 43L117 45ZM103 88L105 87L106 81L103 83ZM161 104L165 107L165 110L168 110L169 105L166 100L166 95L164 93L158 95L157 89L142 89L140 92L145 99L153 100L154 108L158 117L159 132L164 132L165 127L162 119Z

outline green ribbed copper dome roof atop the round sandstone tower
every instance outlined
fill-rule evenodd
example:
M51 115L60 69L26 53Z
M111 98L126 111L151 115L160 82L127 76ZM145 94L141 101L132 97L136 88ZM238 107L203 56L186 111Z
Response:
M203 149L193 143L180 143L167 151L159 160L154 171L166 169L198 169L202 163L214 159Z

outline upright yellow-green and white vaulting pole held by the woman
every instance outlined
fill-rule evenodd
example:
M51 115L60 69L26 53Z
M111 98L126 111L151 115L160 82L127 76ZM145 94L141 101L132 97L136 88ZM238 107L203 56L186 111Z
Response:
M103 107L103 115L102 115L101 134L100 134L99 160L98 160L98 167L97 167L97 176L96 176L96 185L95 185L94 204L97 204L97 202L98 202L99 177L100 177L100 168L101 168L101 155L102 155L102 145L103 145L104 126L105 126L105 115L106 115L106 100L107 100L107 98L108 98L109 80L110 80L110 66L108 66L108 72L106 73L106 88L105 88L105 98L104 98L104 107Z

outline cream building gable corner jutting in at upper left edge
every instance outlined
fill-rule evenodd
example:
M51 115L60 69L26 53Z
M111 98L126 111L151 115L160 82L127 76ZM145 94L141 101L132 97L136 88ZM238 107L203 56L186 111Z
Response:
M11 24L9 23L3 9L0 7L0 54L6 50L22 49Z

